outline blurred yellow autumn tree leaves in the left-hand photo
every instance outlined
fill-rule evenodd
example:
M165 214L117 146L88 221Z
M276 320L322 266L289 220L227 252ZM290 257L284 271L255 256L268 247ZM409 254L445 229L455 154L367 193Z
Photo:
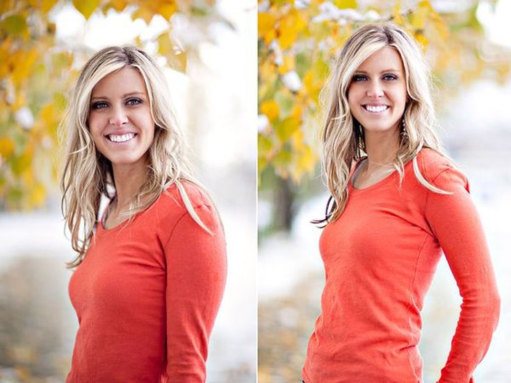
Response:
M67 90L76 80L73 63L84 62L92 50L67 46L56 40L51 15L70 1L3 0L0 2L0 210L40 207L58 180L57 126L65 110ZM163 17L165 30L152 40L136 38L134 44L156 43L158 54L172 68L186 71L190 54L199 42L177 41L172 17L206 28L228 22L214 0L73 0L85 19L107 12L128 12L133 20L149 24Z

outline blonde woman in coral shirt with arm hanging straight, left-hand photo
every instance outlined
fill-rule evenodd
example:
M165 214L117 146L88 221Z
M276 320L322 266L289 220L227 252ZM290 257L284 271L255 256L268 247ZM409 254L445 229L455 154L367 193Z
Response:
M67 382L204 382L225 239L184 158L163 74L134 46L99 51L62 128L63 214L78 253Z

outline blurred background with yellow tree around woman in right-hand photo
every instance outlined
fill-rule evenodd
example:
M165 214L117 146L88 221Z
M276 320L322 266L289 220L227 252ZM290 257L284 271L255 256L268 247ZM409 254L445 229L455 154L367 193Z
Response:
M320 314L318 251L328 198L318 165L318 94L359 24L394 20L423 46L446 150L467 174L485 227L501 318L474 377L511 382L511 2L259 1L259 382L300 382ZM451 346L461 298L442 257L423 309L426 383Z

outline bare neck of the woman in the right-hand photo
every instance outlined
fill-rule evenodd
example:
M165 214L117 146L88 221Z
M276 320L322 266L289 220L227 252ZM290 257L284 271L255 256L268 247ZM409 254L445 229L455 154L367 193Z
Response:
M396 158L400 136L399 130L391 129L384 132L364 131L366 153L368 158L368 171L389 165Z

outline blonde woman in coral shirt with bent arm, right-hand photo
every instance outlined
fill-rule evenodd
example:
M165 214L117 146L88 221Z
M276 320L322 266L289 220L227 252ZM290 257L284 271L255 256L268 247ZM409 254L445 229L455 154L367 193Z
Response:
M439 383L473 382L500 308L467 178L435 135L428 70L396 24L359 28L330 80L321 315L306 383L423 382L421 309L441 250L463 297ZM330 203L332 202L332 203Z

